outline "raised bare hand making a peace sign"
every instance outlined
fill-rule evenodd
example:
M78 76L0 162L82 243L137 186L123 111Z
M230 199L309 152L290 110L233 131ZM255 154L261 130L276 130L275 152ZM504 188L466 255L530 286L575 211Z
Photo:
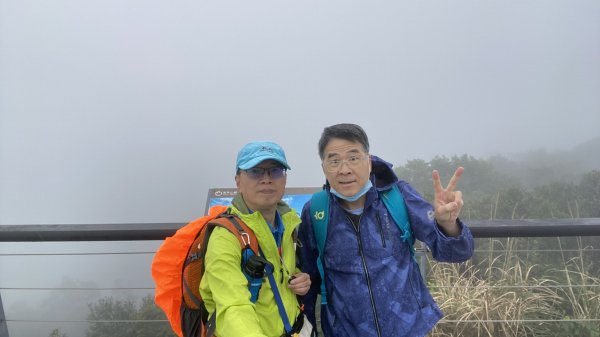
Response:
M431 177L433 178L433 190L435 192L433 201L435 219L446 235L449 236L457 236L460 234L460 228L456 223L456 219L458 218L458 214L464 203L462 200L462 192L455 191L454 189L464 170L463 167L457 168L446 188L442 187L439 172L433 170L431 173Z

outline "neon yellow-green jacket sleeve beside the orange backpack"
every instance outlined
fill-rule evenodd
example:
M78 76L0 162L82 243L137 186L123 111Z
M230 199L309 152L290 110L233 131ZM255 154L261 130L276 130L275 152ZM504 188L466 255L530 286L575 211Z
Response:
M241 271L237 238L224 228L215 228L208 242L200 291L207 309L216 307L219 337L264 337L255 305L250 301L248 281Z

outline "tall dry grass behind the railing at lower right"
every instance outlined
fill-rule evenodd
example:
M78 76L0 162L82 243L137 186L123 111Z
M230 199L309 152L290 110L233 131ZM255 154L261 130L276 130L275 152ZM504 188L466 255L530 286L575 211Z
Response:
M543 254L521 259L518 240L490 239L479 262L430 262L429 287L445 314L430 337L600 336L589 321L600 318L600 279L586 272L584 249L567 258L559 244L562 260L549 268L535 263Z

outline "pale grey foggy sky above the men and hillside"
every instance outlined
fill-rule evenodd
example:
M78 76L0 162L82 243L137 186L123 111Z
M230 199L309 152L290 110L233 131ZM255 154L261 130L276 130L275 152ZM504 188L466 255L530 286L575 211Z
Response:
M251 140L318 186L340 122L396 165L590 140L600 2L0 0L0 224L193 219Z

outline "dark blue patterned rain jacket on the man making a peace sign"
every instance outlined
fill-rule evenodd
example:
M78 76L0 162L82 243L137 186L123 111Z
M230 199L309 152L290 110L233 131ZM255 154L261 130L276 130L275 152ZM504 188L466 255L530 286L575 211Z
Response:
M392 165L371 156L373 187L358 231L337 197L329 194L329 224L323 266L327 305L321 308L321 327L326 337L419 337L425 336L442 317L410 255L409 245L379 192L397 184L406 203L413 235L424 242L441 262L462 262L473 255L473 236L459 220L461 234L447 237L438 227L433 206L408 183L399 180ZM329 186L326 185L329 191ZM316 267L318 248L304 205L299 237L301 268L310 274L310 291L303 297L305 313L315 325L315 304L321 277Z

